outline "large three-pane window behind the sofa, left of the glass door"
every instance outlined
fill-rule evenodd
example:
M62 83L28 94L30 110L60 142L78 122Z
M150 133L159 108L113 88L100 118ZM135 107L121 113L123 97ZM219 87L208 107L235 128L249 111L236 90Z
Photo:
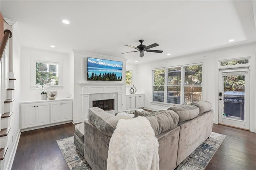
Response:
M153 102L181 104L202 100L202 64L153 70Z

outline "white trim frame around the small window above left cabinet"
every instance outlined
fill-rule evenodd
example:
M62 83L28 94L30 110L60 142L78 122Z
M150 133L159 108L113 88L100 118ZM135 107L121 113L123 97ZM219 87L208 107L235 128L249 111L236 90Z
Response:
M63 89L63 69L62 63L63 61L59 62L54 59L52 60L41 60L37 59L36 57L30 58L30 89L36 89L36 63L54 63L58 64L58 78L59 82L58 85L50 85L48 89Z

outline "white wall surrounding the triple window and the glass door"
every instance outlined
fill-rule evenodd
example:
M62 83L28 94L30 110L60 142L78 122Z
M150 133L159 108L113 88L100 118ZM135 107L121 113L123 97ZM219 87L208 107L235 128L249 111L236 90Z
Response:
M255 43L227 47L214 51L208 51L197 55L186 55L170 58L166 61L138 65L138 89L145 93L145 108L158 110L168 107L155 105L152 101L152 69L186 65L192 63L203 63L203 89L202 99L210 101L215 111L214 123L218 123L218 61L221 59L232 59L238 57L251 57L250 67L250 130L256 131L255 119Z

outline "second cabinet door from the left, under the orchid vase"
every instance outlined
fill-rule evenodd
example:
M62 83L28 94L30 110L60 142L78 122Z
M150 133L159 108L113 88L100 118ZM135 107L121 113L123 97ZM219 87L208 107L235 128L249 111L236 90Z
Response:
M49 103L36 104L36 126L50 123Z

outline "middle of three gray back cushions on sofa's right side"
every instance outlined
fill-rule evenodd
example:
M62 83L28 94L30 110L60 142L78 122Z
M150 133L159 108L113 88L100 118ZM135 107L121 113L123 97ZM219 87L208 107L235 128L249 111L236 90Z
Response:
M190 119L193 119L199 114L199 108L194 105L180 105L170 107L168 110L172 110L180 117L179 123Z

